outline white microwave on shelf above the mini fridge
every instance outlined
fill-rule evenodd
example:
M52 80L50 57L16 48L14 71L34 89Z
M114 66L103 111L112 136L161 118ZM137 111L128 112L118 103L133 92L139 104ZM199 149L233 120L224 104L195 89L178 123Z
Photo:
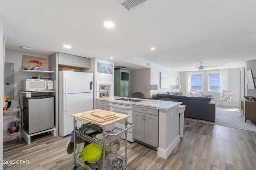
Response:
M50 91L53 90L53 81L46 79L25 79L23 81L25 92Z

